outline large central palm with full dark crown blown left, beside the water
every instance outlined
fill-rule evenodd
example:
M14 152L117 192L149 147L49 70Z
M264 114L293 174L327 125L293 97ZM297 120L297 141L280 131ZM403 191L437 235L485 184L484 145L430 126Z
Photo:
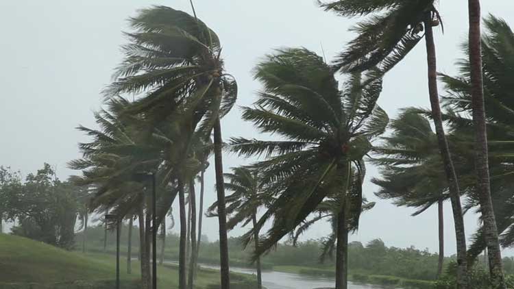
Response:
M255 108L244 108L243 119L283 139L233 138L230 144L240 155L267 156L253 167L262 173L262 182L269 184L267 191L276 199L245 235L249 242L253 231L273 218L256 249L258 256L293 231L330 194L345 194L352 171L363 176L370 140L382 134L389 118L376 105L382 79L368 81L368 75L362 79L354 74L340 90L332 68L307 49L280 49L267 55L255 75L264 89ZM344 206L339 208L338 220L338 238L342 238L347 222ZM343 271L337 275L336 287L343 288Z

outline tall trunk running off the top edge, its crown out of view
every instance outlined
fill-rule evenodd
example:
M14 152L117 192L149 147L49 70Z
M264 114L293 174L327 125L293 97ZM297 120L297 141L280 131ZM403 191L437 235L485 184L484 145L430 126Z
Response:
M472 85L473 125L475 128L476 189L480 199L480 211L484 223L485 242L489 255L489 273L493 288L506 288L502 264L502 252L498 240L498 228L491 200L489 180L489 152L485 121L484 86L482 75L482 47L480 35L480 0L469 3L469 66Z

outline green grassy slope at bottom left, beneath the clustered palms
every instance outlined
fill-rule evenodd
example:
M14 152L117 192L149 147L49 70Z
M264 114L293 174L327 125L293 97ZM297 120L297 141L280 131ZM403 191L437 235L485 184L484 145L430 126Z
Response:
M132 262L132 275L121 259L122 288L137 288L139 264ZM0 234L0 288L113 288L115 257L100 253L64 251L41 242ZM252 288L250 275L232 274L232 281ZM33 285L28 285L33 284ZM36 285L37 284L37 285ZM219 272L201 269L196 288L219 287ZM158 266L158 288L178 288L178 268ZM234 286L237 288L237 286Z

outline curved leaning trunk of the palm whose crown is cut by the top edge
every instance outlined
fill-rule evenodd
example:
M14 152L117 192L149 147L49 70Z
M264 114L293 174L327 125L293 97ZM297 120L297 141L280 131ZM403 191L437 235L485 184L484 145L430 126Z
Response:
M446 140L443 119L441 116L441 105L439 104L439 92L437 92L437 60L435 53L434 34L432 30L432 14L428 12L425 20L425 41L426 55L428 64L428 91L430 95L430 106L432 108L432 118L434 119L439 151L443 160L446 179L450 188L450 199L452 202L452 212L455 225L455 238L457 247L457 288L467 288L467 260L466 260L466 234L464 228L464 218L461 206L461 194L458 188L458 179L455 173L454 164L450 155L450 147Z

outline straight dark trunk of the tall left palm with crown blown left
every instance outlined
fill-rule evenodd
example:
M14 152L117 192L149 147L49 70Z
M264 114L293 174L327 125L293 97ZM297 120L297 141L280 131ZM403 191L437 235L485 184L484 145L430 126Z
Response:
M216 192L218 197L219 223L219 265L221 269L221 289L230 288L230 271L228 268L227 213L225 210L225 186L223 179L223 156L221 140L221 122L217 118L214 125Z

